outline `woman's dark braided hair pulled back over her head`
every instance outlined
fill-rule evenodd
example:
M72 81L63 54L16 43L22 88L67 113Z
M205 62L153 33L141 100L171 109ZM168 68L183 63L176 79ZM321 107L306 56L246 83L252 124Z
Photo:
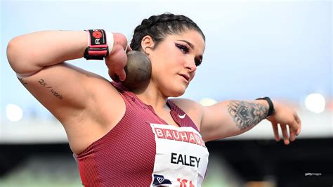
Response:
M138 25L134 30L130 46L135 51L141 51L141 41L143 37L149 35L155 42L155 46L153 47L155 49L159 42L167 35L181 34L184 30L196 30L202 34L204 40L206 39L200 27L190 18L185 15L164 13L161 15L152 15L150 18L144 19L141 25Z

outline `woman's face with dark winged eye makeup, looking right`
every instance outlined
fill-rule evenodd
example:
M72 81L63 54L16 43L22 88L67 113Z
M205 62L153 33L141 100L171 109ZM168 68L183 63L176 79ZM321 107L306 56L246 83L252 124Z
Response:
M183 95L195 77L204 53L204 39L195 30L171 34L149 52L151 81L166 97Z

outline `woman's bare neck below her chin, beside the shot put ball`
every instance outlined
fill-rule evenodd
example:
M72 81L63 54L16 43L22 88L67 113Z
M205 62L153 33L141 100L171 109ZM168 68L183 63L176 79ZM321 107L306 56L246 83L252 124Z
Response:
M168 108L166 105L168 97L164 96L152 81L132 91L141 99L141 101L143 101L143 103L151 105L155 111Z

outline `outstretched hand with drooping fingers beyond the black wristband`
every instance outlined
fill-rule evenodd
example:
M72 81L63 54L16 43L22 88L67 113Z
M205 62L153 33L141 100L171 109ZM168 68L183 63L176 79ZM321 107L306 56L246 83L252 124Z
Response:
M294 109L278 102L273 104L275 112L267 120L272 123L275 140L280 141L278 132L278 124L280 124L285 145L289 145L289 141L295 141L296 136L301 132L301 120ZM289 136L287 128L289 128Z

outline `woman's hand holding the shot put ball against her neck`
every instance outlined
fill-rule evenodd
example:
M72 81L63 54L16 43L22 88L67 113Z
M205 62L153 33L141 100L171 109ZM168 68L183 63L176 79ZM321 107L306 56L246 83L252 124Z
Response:
M115 81L123 81L126 78L124 67L127 63L127 51L132 51L124 34L113 33L114 44L111 53L105 58L105 64L109 69L110 77Z

